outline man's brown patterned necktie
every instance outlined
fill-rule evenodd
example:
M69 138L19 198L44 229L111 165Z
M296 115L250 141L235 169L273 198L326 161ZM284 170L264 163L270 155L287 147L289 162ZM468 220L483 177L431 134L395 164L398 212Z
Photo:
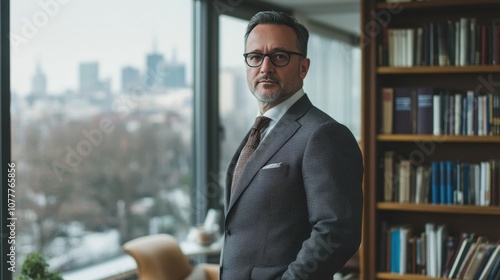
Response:
M234 191L234 186L236 185L238 179L240 178L241 171L243 171L243 167L245 167L245 164L247 163L248 159L253 154L253 152L255 152L257 146L259 146L260 131L266 128L270 121L271 121L270 118L263 116L257 117L255 119L255 123L252 126L252 131L250 132L250 136L248 136L248 140L247 143L245 144L245 147L243 147L243 150L241 150L240 158L238 159L238 163L236 164L236 168L234 169L233 183L231 184L231 194Z

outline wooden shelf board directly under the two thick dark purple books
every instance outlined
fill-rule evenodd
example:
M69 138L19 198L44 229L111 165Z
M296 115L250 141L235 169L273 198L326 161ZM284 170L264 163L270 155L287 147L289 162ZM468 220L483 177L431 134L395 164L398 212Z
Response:
M500 143L500 136L458 136L428 134L379 134L380 142L415 142L427 141L436 143Z

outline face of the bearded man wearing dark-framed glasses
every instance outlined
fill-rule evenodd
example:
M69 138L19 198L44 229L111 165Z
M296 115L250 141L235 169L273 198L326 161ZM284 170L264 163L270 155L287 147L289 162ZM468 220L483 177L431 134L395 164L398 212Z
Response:
M286 25L259 24L248 35L246 52L268 54L273 51L293 51L297 49L297 36ZM246 65L246 64L245 64ZM246 65L247 82L250 91L259 102L269 108L288 99L302 88L303 79L309 69L309 59L292 54L286 66L274 66L268 56L262 65Z

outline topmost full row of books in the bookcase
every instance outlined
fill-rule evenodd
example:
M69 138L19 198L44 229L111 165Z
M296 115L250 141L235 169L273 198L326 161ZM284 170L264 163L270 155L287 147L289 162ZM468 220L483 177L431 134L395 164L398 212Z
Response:
M498 65L500 20L462 17L416 28L385 28L379 65L394 67Z

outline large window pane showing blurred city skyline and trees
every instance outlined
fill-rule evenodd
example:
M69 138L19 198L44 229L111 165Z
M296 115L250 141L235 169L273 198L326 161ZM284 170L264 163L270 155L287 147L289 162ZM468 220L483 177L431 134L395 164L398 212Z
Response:
M191 224L192 1L11 1L19 271Z

